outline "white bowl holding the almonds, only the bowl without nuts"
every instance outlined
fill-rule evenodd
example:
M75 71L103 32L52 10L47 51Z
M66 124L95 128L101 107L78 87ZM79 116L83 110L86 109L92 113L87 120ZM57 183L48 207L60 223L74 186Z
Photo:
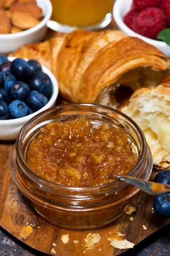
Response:
M47 31L47 21L51 18L52 5L50 0L37 0L37 5L42 9L43 20L37 26L23 32L0 35L0 53L14 52L25 44L42 40Z

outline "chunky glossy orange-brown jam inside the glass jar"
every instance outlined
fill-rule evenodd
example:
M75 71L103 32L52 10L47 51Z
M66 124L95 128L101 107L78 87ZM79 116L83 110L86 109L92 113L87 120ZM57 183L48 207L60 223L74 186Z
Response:
M138 162L127 133L107 124L93 128L85 117L51 122L41 128L28 148L34 172L66 186L96 186L125 175Z

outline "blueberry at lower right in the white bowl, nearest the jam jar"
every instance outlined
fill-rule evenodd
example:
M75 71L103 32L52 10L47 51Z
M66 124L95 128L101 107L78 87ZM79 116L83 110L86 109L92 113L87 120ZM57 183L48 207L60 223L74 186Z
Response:
M32 90L27 97L27 103L34 111L37 111L40 108L44 107L47 102L47 97L44 96L42 93L37 92L36 90Z

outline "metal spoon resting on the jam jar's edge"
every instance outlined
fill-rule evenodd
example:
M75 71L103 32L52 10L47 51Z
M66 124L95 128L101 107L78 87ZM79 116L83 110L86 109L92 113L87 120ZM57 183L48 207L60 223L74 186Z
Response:
M114 177L115 178L115 177ZM152 181L146 181L130 176L117 176L119 180L124 180L127 183L130 183L133 186L141 189L149 195L161 195L167 192L170 192L170 185L162 184Z

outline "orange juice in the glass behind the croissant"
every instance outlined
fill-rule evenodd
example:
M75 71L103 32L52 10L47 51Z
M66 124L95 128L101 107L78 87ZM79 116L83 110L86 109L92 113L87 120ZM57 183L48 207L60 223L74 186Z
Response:
M70 26L99 23L111 12L113 0L51 0L52 19Z

